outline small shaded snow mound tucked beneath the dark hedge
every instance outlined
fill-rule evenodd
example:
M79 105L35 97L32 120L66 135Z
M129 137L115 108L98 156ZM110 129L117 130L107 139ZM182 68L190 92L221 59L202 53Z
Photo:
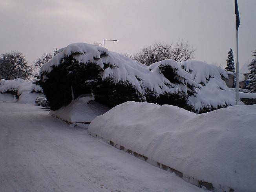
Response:
M110 108L92 101L91 97L81 95L68 106L63 106L56 111L51 110L50 115L71 124L90 123L95 117L104 114L108 110Z

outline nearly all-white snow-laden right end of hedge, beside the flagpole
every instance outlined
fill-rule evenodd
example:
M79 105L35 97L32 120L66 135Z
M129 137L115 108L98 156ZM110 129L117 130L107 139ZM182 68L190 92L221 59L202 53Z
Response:
M201 88L196 88L197 95L188 99L197 112L203 108L218 108L236 104L235 95L222 79L222 77L228 78L225 70L194 60L179 64L181 68L190 73L192 80L202 85Z

